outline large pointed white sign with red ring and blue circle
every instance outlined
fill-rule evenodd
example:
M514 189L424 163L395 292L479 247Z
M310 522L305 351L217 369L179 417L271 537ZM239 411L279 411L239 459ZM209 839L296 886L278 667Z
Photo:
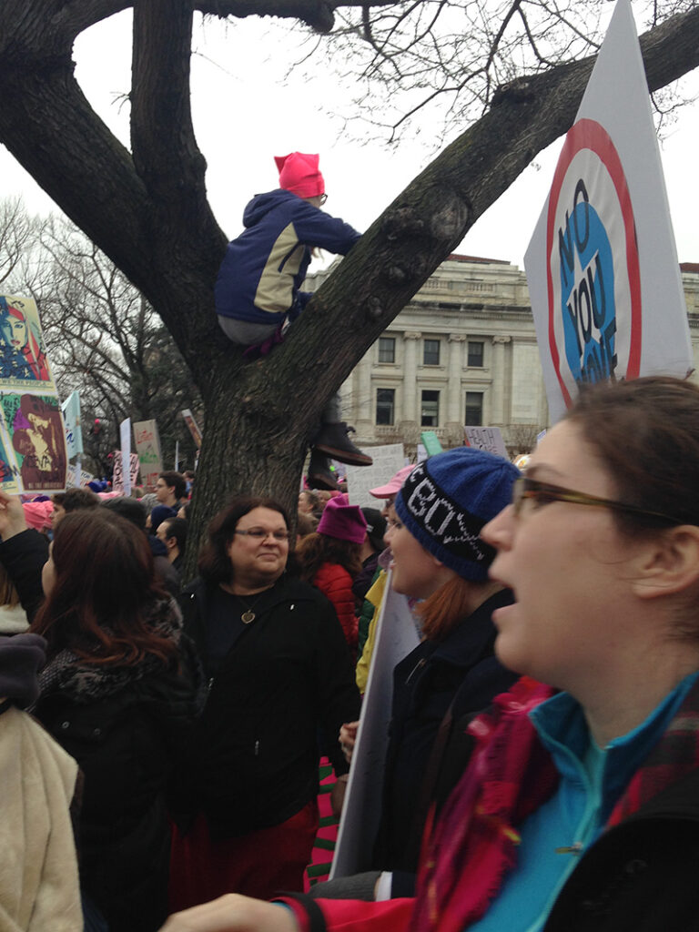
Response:
M553 421L583 382L692 369L675 237L628 0L618 0L525 267Z

